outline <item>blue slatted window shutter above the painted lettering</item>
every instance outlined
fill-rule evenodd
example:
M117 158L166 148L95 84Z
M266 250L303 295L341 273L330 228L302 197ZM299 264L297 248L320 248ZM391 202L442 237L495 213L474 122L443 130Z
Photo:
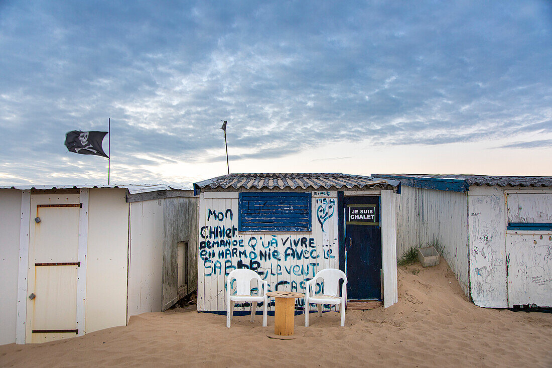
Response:
M238 196L240 231L311 231L311 193L242 192Z

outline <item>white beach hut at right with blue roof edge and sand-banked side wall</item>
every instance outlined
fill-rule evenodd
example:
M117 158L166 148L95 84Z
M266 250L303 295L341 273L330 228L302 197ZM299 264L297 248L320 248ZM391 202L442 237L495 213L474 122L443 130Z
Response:
M402 183L399 256L436 240L477 306L552 306L552 177L375 175Z

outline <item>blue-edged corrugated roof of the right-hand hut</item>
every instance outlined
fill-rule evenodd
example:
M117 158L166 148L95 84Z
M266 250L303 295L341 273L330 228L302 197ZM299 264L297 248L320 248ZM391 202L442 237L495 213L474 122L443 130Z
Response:
M431 174L372 174L374 176L406 181L464 182L466 185L499 187L551 187L552 176L500 176L500 175L431 175Z

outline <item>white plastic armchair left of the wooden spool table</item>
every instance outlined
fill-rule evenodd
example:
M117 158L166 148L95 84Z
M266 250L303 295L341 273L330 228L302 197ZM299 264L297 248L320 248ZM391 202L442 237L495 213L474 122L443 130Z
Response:
M251 295L251 280L257 279L258 295ZM232 294L232 279L236 280L236 295ZM263 291L261 293L261 285ZM226 327L230 328L230 320L234 313L236 302L251 302L251 322L255 318L257 303L263 302L263 327L267 326L268 282L263 281L257 272L248 269L237 269L230 272L226 279Z

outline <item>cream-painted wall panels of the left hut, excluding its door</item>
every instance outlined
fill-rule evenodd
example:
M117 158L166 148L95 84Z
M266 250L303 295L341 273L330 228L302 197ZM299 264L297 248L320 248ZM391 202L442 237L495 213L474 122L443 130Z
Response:
M125 194L123 188L71 194L80 197L75 203L82 203L75 317L79 335L125 325L127 315L161 310L164 199L134 202L130 213ZM49 194L0 190L0 344L30 342L25 341L25 322L33 196Z

